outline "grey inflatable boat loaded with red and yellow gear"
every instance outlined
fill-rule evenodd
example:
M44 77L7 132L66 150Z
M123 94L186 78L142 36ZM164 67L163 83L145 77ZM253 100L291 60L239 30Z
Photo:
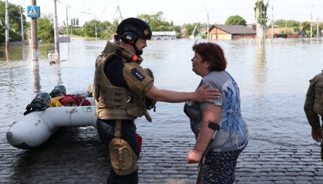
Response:
M53 91L50 97L48 93L37 94L32 103L27 105L25 116L10 125L6 134L10 145L20 149L32 149L45 143L60 127L96 128L96 106L89 90L85 95L65 95L66 92L58 89L56 92L60 94L55 95ZM66 100L67 98L74 101Z

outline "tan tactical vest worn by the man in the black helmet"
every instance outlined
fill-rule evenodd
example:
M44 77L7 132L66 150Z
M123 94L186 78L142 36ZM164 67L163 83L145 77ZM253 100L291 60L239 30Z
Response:
M124 78L133 82L128 83L126 80L128 86L132 85L130 88L134 91L113 86L106 77L104 66L113 56L122 58ZM103 120L134 120L145 115L149 122L152 121L147 111L145 94L153 85L153 79L139 65L142 60L142 58L137 58L137 56L122 47L118 47L112 53L97 57L93 83L93 97L96 104L95 115L97 118ZM145 76L136 76L134 73L144 74ZM138 80L138 77L142 77L142 80Z

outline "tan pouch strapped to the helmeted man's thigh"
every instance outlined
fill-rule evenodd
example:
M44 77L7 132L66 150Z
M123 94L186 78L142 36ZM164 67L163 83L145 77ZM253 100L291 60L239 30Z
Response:
M137 155L125 140L120 139L121 120L115 122L114 136L115 139L109 143L109 152L115 174L124 176L137 171Z

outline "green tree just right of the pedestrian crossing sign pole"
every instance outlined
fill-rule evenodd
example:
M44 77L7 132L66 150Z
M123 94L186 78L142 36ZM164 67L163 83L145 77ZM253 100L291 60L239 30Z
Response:
M52 17L44 14L43 18L37 19L38 40L43 42L53 42L54 39L54 24Z

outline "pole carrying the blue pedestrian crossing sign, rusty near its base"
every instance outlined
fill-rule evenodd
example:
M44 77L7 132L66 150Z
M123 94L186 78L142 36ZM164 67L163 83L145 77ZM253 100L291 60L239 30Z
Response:
M36 6L36 0L31 0L31 5ZM36 63L35 66L38 66L38 32L37 32L37 18L31 17L31 53L32 53L32 61Z

